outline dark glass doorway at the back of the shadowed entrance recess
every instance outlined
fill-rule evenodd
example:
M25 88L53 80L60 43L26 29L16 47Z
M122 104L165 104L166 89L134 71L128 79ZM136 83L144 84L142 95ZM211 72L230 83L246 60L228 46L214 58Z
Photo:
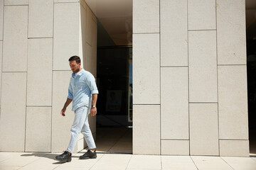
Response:
M97 126L132 126L132 47L98 47L97 85Z

